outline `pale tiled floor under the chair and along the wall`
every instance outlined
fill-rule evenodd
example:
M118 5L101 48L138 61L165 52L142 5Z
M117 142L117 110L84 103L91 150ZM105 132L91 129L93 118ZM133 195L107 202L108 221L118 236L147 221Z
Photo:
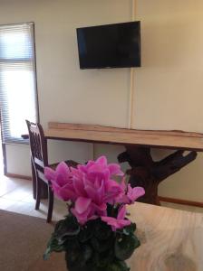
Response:
M34 202L31 181L7 178L2 173L0 174L0 209L46 219L47 201L42 201L40 210L34 210ZM187 205L169 202L161 202L161 205L180 210L203 212L203 208ZM61 220L66 212L65 203L55 199L53 220Z

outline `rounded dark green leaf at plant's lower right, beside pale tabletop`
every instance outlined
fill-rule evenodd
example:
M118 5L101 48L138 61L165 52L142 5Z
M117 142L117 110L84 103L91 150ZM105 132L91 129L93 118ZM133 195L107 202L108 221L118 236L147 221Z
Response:
M131 257L135 248L140 246L140 241L135 235L122 235L122 238L116 238L115 256L120 260L126 260Z

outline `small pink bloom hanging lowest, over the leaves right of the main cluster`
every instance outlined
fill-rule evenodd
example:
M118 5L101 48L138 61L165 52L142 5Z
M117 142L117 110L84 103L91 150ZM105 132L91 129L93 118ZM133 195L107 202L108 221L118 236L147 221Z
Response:
M116 229L122 229L125 226L131 225L130 220L125 220L126 215L126 207L125 205L121 207L121 209L118 212L117 219L112 217L104 217L102 216L102 221L106 222L108 225L111 226L112 231L116 231Z

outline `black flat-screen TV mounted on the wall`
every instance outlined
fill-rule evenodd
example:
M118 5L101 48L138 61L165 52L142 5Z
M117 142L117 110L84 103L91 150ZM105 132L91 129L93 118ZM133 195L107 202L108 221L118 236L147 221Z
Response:
M77 28L81 69L140 67L140 22Z

